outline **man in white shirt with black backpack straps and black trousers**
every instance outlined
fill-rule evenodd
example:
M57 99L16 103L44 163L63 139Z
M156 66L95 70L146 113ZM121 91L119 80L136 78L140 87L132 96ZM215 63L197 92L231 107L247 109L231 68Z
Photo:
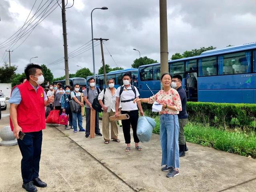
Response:
M131 85L131 76L130 74L124 74L123 76L124 85L120 86L116 90L116 114L118 116L118 108L121 102L122 111L121 114L128 114L130 116L129 119L122 120L124 139L127 147L125 149L126 152L131 150L131 136L130 136L130 125L132 125L133 138L135 142L135 148L138 151L141 151L142 148L139 146L139 138L136 134L137 131L137 122L139 118L138 108L140 110L140 115L143 116L144 112L141 107L141 103L137 102L133 103L135 98L139 98L140 94L136 87ZM137 106L138 105L138 106Z

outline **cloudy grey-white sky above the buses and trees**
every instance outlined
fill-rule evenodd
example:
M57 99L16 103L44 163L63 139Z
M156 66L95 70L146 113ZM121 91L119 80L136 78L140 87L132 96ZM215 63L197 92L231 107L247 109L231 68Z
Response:
M72 3L68 0L66 7ZM39 20L47 6L44 17L56 9ZM66 9L70 73L80 67L93 72L90 14L103 6L108 10L94 10L92 19L94 38L109 39L103 46L105 64L131 68L139 58L133 48L142 57L160 62L159 0L74 0L74 6ZM255 7L255 0L167 0L168 58L203 46L223 48L255 42ZM36 13L38 8L41 9ZM22 28L27 18L28 23ZM10 49L11 64L18 66L17 73L24 72L30 58L38 56L31 62L45 64L54 78L65 74L64 60L60 59L64 57L62 14L56 0L0 0L0 19L0 66L3 61L9 63L6 50ZM34 30L26 32L38 20ZM16 44L12 43L14 40ZM96 73L102 66L98 44L94 42ZM80 46L84 49L79 50Z

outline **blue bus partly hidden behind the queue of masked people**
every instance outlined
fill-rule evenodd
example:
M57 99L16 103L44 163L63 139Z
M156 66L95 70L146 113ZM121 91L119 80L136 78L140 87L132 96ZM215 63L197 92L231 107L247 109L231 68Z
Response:
M138 87L138 69L137 68L128 68L128 69L123 69L123 70L116 70L116 71L110 71L107 75L107 80L112 78L115 80L115 88L118 88L123 84L122 78L124 74L130 74L132 77L132 84L136 87ZM91 77L93 76L88 76L86 80L88 81ZM89 82L88 82L89 84ZM105 88L105 83L104 83L104 76L103 74L101 75L96 75L96 86L100 88L100 90Z

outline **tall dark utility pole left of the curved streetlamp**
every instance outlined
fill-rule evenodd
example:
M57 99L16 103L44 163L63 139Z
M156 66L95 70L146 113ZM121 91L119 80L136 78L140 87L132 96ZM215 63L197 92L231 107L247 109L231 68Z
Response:
M62 0L62 29L63 29L63 41L64 41L65 79L66 79L66 85L69 85L68 42L67 42L65 0Z

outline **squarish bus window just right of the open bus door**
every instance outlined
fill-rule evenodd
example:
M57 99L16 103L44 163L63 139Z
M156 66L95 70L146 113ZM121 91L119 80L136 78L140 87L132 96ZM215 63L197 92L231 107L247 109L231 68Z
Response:
M198 60L199 76L217 75L216 57L208 57Z

